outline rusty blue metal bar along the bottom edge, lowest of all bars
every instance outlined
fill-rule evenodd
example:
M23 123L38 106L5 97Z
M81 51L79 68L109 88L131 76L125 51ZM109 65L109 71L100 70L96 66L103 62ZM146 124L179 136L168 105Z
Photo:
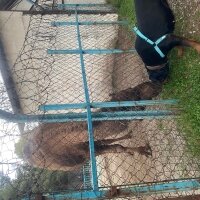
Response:
M200 189L199 181L195 179L187 181L171 181L163 183L152 183L152 184L140 184L134 186L119 186L117 189L120 191L118 197L127 197L135 195L151 195L151 194L163 194L163 193L177 193L181 191L193 191ZM54 198L59 200L64 199L98 199L108 198L110 194L109 188L102 188L99 191L79 191L63 194L47 194L48 198Z

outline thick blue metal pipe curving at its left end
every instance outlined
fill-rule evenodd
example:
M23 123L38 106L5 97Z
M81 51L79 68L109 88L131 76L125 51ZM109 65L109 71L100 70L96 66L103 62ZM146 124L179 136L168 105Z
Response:
M151 111L117 111L117 112L93 112L92 121L105 120L133 120L133 119L160 119L168 118L176 113L168 110L151 110ZM66 113L66 114L46 114L46 115L22 115L12 114L0 110L0 118L14 123L26 122L70 122L70 121L87 121L87 113Z

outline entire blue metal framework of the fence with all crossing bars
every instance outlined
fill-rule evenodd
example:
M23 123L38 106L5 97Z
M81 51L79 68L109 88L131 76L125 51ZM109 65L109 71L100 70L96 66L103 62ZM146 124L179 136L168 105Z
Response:
M64 9L70 7L74 10L75 21L52 21L51 26L63 27L63 26L74 26L76 28L76 36L78 41L78 49L48 49L47 54L64 54L64 55L78 55L81 63L82 82L84 86L84 103L75 104L51 104L51 105L40 105L39 110L45 112L41 115L23 115L23 114L12 114L6 111L0 111L0 117L2 119L15 122L15 123L26 123L26 122L69 122L69 121L87 121L88 125L88 136L90 146L90 162L91 169L84 167L84 182L85 186L82 191L67 192L67 193L47 193L44 196L49 199L97 199L97 198L112 198L112 197L123 197L123 196L137 196L137 195L151 195L151 194L163 194L163 193L177 193L182 191L193 191L200 189L200 183L198 179L187 178L177 180L167 180L155 183L141 183L132 185L118 185L111 187L99 187L98 183L98 169L95 157L95 146L94 146L94 134L93 134L93 122L104 121L104 120L152 120L152 119L168 119L175 116L175 112L169 109L155 109L155 110L143 110L143 111L114 111L114 112L92 112L92 109L96 108L125 108L135 106L163 106L163 105L177 105L177 100L143 100L143 101L124 101L124 102L91 102L88 81L85 69L85 55L105 55L105 54L126 54L135 53L135 49L84 49L81 39L81 26L90 25L118 25L126 26L126 21L80 21L79 20L79 8L89 7L105 7L103 4L58 4L58 8ZM64 112L71 109L84 109L82 113ZM46 114L49 111L58 112L60 114ZM89 165L90 166L90 165ZM89 178L89 179L88 179ZM92 190L88 190L88 183L92 184ZM90 187L90 186L89 186ZM24 198L29 199L29 198Z

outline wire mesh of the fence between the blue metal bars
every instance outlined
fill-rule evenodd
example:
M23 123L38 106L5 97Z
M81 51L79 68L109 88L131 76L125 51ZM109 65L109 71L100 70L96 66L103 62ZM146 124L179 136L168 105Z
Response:
M39 5L47 3L38 2ZM118 15L79 15L79 19L81 22L114 22L118 20ZM11 66L11 74L21 113L44 116L84 113L85 109L49 112L38 109L45 104L85 102L79 55L47 53L48 49L78 49L75 26L51 25L54 21L74 22L75 15L22 15L20 20L28 24L25 26L27 31L23 47ZM134 48L134 36L123 26L81 26L80 32L83 49ZM9 45L5 46L8 49L8 60L12 63ZM84 55L84 62L91 102L145 99L138 95L126 96L126 89L148 81L136 53ZM13 112L11 104L14 99L8 97L3 80L0 86L1 109ZM124 90L125 96L121 98L119 94ZM152 93L149 95L147 99L154 97ZM137 107L136 111L144 109L159 111L168 107ZM110 110L93 108L92 111L107 113ZM37 193L38 196L51 192L56 195L92 189L86 122L24 123L24 130L20 128L21 131L18 129L19 124L3 120L0 122L0 199L31 198ZM93 122L93 127L100 188L128 187L131 184L200 176L199 159L189 152L181 127L174 118L109 121L107 116L105 121ZM122 140L117 141L117 138ZM107 146L111 146L111 142L114 142L112 148ZM151 156L147 156L149 146ZM198 191L153 194L148 197L138 193L134 194L135 197L123 199L163 199L194 194L198 194Z

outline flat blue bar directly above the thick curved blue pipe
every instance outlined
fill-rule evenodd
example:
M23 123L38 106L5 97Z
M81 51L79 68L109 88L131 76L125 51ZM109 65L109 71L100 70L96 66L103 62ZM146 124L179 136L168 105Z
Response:
M153 105L176 105L178 100L143 100L143 101L120 101L120 102L93 102L90 103L91 108L115 108L115 107L132 107L132 106L153 106ZM50 104L41 105L39 110L67 110L67 109L85 109L86 103L77 104Z

